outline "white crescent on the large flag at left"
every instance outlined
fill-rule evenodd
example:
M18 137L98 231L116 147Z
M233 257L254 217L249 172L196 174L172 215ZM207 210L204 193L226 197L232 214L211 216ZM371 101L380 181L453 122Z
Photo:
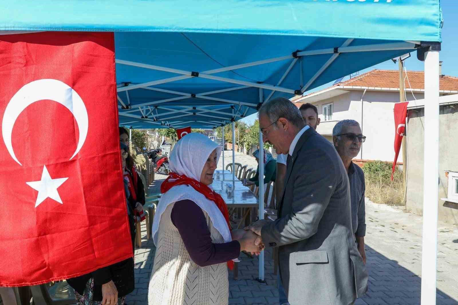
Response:
M79 94L64 82L56 79L40 79L29 82L22 86L22 88L13 95L8 105L6 105L2 121L2 136L6 149L8 149L11 158L21 166L22 164L17 160L11 143L11 133L14 123L19 114L21 114L30 104L44 99L49 99L64 105L75 117L80 136L76 151L73 156L71 156L70 160L76 156L81 150L84 141L86 141L89 120L86 106Z

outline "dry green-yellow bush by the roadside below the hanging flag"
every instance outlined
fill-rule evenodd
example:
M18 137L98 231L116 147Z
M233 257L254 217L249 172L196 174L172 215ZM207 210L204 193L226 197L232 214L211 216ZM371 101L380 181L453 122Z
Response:
M391 181L392 164L382 161L365 163L362 168L365 176L365 196L376 203L392 206L402 206L404 201L403 173L398 169L394 171Z

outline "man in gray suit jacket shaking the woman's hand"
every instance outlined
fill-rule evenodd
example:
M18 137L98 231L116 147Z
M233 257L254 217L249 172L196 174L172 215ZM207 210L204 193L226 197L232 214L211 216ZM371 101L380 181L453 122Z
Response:
M299 109L275 98L259 109L264 142L288 154L278 219L245 229L278 246L291 305L349 305L365 294L367 271L351 225L349 180L333 145L305 125Z

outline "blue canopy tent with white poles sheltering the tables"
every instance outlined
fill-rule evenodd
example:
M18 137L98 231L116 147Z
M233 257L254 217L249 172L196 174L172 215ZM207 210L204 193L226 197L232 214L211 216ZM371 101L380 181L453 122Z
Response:
M422 301L435 304L439 0L16 0L0 7L3 34L114 32L120 125L136 128L227 125L269 99L417 50L431 99ZM260 218L262 202L261 183Z

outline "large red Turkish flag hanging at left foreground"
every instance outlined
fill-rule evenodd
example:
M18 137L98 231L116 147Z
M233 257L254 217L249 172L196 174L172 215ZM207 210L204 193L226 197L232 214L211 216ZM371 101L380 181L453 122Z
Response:
M0 35L0 286L132 256L113 33Z

